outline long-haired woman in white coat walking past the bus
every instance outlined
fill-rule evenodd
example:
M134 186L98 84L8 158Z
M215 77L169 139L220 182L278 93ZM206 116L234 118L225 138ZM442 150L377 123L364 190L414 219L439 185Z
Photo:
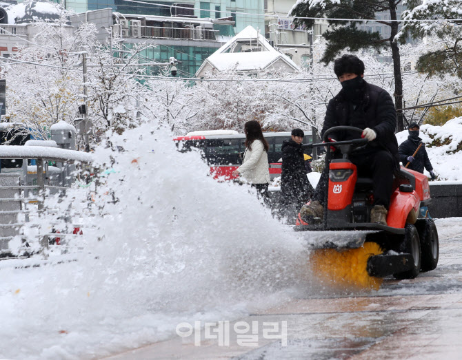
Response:
M248 121L244 125L245 153L240 167L232 175L242 175L257 193L268 198L268 184L270 183L270 170L268 169L268 141L263 138L260 124Z

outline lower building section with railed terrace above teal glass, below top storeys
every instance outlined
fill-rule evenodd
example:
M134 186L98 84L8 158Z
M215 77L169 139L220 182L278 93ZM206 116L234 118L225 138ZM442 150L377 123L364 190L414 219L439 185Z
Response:
M128 48L141 41L157 45L141 52L141 56L159 63L167 63L174 57L179 61L177 68L181 77L193 77L203 61L231 38L221 33L232 34L234 25L228 19L122 14L111 8L77 14L71 21L75 28L84 22L94 23L98 40L107 45L110 45L110 36ZM150 73L159 71L160 67L152 67Z

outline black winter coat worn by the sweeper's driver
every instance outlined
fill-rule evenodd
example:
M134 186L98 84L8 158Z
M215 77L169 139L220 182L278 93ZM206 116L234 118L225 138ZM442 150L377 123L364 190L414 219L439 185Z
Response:
M363 97L358 105L353 105L345 98L342 89L337 96L332 98L325 112L323 130L334 126L352 126L374 130L377 137L370 142L365 151L387 149L395 159L396 167L399 167L398 142L394 135L396 128L396 110L393 100L384 89L363 81ZM342 131L341 134L330 134L330 138L337 141L359 138L361 134L352 131Z

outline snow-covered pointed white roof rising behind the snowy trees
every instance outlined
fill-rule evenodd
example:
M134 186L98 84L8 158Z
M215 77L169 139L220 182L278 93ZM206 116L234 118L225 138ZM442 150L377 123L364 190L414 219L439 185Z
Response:
M248 26L210 55L196 77L205 76L207 72L237 70L242 74L257 74L267 70L298 72L299 67L270 45L265 36Z

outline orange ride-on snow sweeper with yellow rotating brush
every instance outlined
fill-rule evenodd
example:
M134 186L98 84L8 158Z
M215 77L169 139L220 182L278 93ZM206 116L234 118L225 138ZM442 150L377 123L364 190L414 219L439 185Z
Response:
M326 146L333 131L363 130L332 127L323 135ZM387 224L370 222L372 179L358 177L350 154L365 147L368 140L329 142L339 149L342 159L325 156L325 176L329 180L324 194L324 216L303 218L299 213L296 231L307 231L310 265L313 273L341 287L379 289L385 276L412 279L420 271L436 268L439 240L427 206L430 204L428 178L405 169L394 173L393 192Z

